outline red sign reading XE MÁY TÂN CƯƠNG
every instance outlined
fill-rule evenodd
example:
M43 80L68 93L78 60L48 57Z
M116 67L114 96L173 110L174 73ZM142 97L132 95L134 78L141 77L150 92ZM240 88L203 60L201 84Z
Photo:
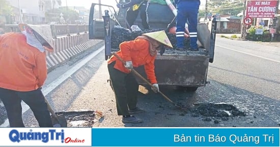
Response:
M277 1L247 1L246 17L273 18Z

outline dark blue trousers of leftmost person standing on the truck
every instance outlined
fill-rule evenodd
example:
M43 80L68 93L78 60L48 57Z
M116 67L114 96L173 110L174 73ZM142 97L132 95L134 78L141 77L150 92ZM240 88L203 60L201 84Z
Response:
M132 8L129 8L126 12L126 20L128 24L131 26L134 24L138 14L140 13L140 18L142 20L142 26L146 30L149 29L149 20L148 20L148 13L147 9L149 7L149 3L142 4L138 10L133 11Z

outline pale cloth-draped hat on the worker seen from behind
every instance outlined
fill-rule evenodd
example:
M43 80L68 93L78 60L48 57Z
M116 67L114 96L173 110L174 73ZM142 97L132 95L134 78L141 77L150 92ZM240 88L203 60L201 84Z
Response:
M40 43L47 48L47 51L53 51L52 35L49 25L32 25L26 23L19 23L18 27L20 31L24 31L25 27L30 27L34 31L34 35L40 41Z

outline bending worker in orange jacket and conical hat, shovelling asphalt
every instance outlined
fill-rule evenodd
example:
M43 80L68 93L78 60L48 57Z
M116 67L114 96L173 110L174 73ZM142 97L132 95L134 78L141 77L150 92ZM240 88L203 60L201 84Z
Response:
M125 41L120 44L117 54L126 62L124 65L114 55L108 60L108 71L111 85L115 92L118 115L122 115L123 123L142 123L143 120L131 115L144 112L136 107L138 83L130 70L133 67L144 65L146 74L152 83L152 90L159 91L159 86L154 72L154 62L158 50L164 45L172 47L170 40L164 31L146 33L138 36L133 41ZM161 54L163 51L161 51Z

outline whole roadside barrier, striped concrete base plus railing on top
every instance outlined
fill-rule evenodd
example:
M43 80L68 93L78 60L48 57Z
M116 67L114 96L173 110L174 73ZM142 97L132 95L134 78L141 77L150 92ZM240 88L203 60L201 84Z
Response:
M88 25L55 24L33 25L52 42L54 51L46 52L47 68L51 71L71 57L85 51L102 40L89 40ZM50 27L51 26L51 27ZM6 24L6 33L20 32L18 25Z

